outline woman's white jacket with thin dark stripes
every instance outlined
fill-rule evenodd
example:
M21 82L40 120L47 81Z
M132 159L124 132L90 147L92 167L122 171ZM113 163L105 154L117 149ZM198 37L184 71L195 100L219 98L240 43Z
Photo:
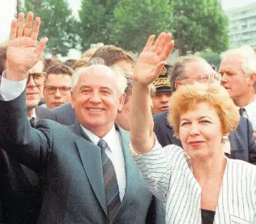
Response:
M190 158L179 146L157 142L134 160L151 192L164 203L166 224L201 224L201 188ZM256 166L228 159L215 211L215 224L256 224Z

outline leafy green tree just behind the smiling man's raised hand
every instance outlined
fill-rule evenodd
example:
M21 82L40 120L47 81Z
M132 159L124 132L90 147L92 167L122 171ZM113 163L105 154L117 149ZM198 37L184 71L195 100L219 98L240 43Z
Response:
M23 11L33 11L35 16L41 17L39 38L49 38L46 52L52 53L53 57L57 54L66 56L77 44L77 22L65 0L25 0Z

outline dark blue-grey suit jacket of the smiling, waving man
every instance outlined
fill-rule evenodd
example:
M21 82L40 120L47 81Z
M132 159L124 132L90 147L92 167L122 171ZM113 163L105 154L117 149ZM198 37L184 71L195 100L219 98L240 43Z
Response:
M109 223L100 148L85 139L79 125L39 120L36 129L32 129L24 102L24 93L17 99L0 101L0 141L12 158L44 174L38 223ZM130 137L122 129L119 131L125 158L126 193L110 223L154 223L147 219L152 195L130 155Z

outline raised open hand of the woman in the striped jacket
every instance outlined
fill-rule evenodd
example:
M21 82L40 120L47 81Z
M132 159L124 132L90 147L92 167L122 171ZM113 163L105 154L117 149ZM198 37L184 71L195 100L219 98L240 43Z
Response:
M143 52L134 69L134 82L149 86L159 76L165 60L173 50L174 41L171 33L162 32L155 40L155 36L149 36Z

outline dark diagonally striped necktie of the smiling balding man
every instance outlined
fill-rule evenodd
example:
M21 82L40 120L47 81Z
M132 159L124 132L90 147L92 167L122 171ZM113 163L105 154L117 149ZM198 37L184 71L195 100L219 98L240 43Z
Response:
M119 189L117 184L117 176L113 167L113 163L109 159L108 155L105 153L105 148L107 143L100 139L98 146L101 149L101 161L102 161L102 171L103 179L105 185L105 197L108 209L108 218L111 221L117 212L117 209L121 205L119 197Z

